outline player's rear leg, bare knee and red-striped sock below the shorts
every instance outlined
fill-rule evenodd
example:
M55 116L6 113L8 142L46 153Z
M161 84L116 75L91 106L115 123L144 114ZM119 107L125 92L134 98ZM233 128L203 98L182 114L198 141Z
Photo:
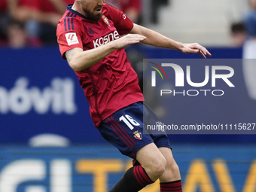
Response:
M181 174L175 162L170 148L159 148L166 159L167 166L163 175L160 176L160 191L181 192Z

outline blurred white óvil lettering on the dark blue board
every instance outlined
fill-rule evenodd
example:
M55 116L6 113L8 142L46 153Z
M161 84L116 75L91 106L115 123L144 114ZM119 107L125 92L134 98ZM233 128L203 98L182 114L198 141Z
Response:
M29 79L24 77L18 78L11 90L0 86L0 114L26 114L32 108L38 114L74 114L77 107L72 79L53 78L50 87L42 90L29 88Z

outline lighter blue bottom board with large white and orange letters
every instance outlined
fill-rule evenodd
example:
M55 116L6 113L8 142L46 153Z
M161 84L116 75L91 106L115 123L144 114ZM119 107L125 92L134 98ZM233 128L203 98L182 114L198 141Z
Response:
M172 145L184 192L254 192L253 145ZM110 145L1 148L0 191L107 192L132 162ZM159 192L159 181L142 192Z

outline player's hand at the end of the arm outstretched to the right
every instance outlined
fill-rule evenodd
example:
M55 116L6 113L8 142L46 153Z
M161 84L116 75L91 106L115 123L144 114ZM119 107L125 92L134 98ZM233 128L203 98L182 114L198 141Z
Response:
M183 44L181 51L183 53L200 53L203 58L206 59L206 56L212 56L212 54L206 50L205 47L201 46L200 44Z

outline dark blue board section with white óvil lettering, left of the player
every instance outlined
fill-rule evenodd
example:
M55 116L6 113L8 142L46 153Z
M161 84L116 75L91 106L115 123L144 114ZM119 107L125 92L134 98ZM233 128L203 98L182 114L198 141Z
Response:
M78 77L58 47L2 49L0 142L52 133L71 142L101 141Z

